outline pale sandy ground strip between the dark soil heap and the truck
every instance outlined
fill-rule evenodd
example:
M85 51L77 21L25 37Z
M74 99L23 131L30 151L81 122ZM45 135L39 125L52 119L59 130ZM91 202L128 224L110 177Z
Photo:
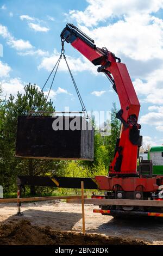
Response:
M120 220L111 216L93 214L92 209L98 206L85 205L86 233L123 236L130 239L141 239L163 245L163 223L152 217L141 220ZM49 226L56 231L82 231L82 209L80 204L66 204L60 201L23 203L23 217L16 217L16 203L0 205L0 222L17 222L29 220L39 227Z

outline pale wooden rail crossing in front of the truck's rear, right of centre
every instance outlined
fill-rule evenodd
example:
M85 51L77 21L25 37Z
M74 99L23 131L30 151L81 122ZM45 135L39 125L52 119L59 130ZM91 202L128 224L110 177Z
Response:
M67 199L69 204L81 204L81 199ZM163 207L163 200L133 200L133 199L84 199L85 204L95 205L128 205L128 206L158 206Z

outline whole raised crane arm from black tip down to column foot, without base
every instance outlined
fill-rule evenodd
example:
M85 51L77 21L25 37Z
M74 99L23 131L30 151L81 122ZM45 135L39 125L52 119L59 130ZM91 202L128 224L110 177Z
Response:
M122 122L120 138L117 139L114 160L110 164L109 175L136 175L137 153L142 144L142 136L137 124L140 103L128 74L126 65L105 47L98 48L94 41L72 24L67 24L61 38L76 48L94 65L98 72L104 72L118 94L121 109L116 117Z

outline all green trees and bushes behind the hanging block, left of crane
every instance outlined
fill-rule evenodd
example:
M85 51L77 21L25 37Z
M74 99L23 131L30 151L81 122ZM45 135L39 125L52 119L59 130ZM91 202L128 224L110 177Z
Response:
M111 135L102 136L95 129L95 160L94 161L52 161L22 159L15 157L17 117L28 115L30 111L54 111L53 102L47 101L43 92L28 84L24 87L24 94L10 95L8 100L1 99L0 87L0 184L4 192L16 191L17 175L58 175L72 177L90 177L107 175L108 166L114 157L116 138L119 136L120 121L116 119L117 108L113 103L111 109ZM95 118L91 118L95 127ZM36 188L37 192L40 188ZM65 190L64 190L65 191ZM31 194L35 188L30 187ZM75 191L77 192L77 190Z

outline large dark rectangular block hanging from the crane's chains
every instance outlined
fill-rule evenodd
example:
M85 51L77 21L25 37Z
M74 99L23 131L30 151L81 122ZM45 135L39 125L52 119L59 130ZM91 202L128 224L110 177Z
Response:
M94 130L82 117L18 117L16 156L93 160Z

